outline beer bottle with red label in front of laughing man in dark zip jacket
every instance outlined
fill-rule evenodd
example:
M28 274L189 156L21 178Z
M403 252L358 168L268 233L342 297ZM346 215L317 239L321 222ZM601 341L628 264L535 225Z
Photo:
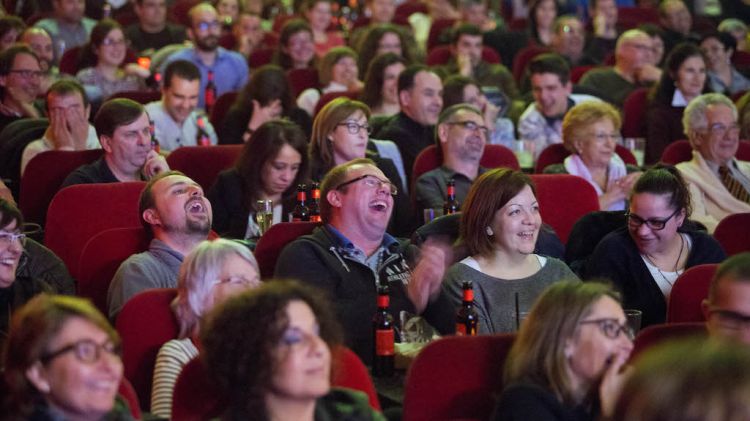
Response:
M372 318L373 327L373 356L372 374L379 377L393 375L395 360L395 332L393 330L393 316L388 313L390 296L388 286L378 287L378 311Z

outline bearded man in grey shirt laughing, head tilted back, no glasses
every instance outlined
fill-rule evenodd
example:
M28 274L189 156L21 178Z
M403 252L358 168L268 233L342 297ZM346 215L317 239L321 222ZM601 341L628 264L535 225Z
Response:
M201 186L179 171L151 179L141 192L138 211L153 239L147 251L128 257L112 278L107 292L112 320L139 292L175 288L183 258L211 230L211 203Z

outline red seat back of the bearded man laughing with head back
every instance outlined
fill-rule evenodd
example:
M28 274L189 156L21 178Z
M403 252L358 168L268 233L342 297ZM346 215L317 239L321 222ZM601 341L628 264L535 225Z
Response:
M131 255L148 249L149 241L143 227L112 228L91 237L78 262L78 295L107 314L107 291L117 268Z

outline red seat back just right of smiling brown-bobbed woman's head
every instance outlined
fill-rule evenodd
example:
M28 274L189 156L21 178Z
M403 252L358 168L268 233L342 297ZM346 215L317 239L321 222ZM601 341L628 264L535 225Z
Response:
M583 215L599 210L594 187L581 177L568 174L532 174L542 221L555 229L563 244L573 224Z

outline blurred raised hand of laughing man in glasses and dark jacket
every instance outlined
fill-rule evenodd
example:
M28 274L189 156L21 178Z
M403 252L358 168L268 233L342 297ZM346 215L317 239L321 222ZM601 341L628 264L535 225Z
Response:
M406 289L418 314L440 293L445 269L452 258L450 246L429 239L422 245L420 254Z

